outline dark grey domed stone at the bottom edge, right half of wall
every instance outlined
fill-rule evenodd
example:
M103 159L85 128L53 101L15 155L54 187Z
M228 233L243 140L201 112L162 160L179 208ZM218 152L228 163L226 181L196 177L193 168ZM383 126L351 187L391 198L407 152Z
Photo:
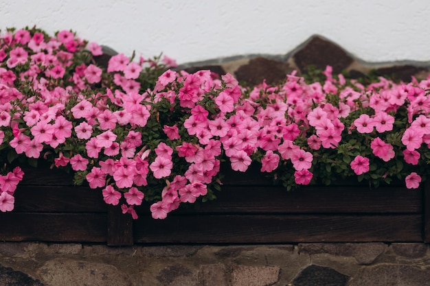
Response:
M348 276L319 265L309 265L293 281L294 286L345 286L346 283Z

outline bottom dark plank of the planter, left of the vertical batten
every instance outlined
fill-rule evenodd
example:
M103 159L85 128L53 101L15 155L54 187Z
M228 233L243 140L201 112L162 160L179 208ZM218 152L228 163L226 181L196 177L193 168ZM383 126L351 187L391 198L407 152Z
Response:
M106 241L105 213L1 213L3 241Z

